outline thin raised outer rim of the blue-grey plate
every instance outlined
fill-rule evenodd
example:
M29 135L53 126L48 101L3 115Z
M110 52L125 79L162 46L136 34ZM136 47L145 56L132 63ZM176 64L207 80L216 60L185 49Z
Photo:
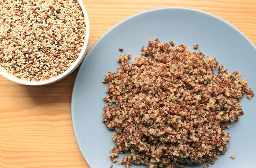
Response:
M247 40L247 42L250 43L250 45L252 45L252 47L254 48L254 50L256 50L256 46L253 44L253 42L252 42L244 33L242 33L238 28L236 28L234 25L232 25L230 22L227 22L226 20L224 20L224 19L222 19L221 17L218 17L218 16L216 16L216 15L214 15L214 14L208 13L208 12L206 12L206 11L201 11L201 10L198 10L198 9L195 9L195 8L186 8L186 7L161 7L161 8L152 8L152 9L149 9L149 10L146 10L146 11L141 11L141 12L139 12L139 13L137 13L137 14L131 15L131 16L125 18L124 20L121 20L120 22L116 23L116 24L113 25L111 28L109 28L104 34L102 34L102 36L100 36L99 39L96 40L96 42L92 45L92 47L90 48L90 50L87 52L87 54L86 54L84 60L83 60L83 61L81 62L81 64L80 64L80 67L79 67L79 70L78 70L78 73L77 73L77 75L76 75L76 78L75 78L75 81L74 81L74 85L73 85L72 97L71 97L71 121L72 121L73 132L74 132L74 135L75 135L75 138L76 138L76 143L77 143L77 145L78 145L78 147L79 147L79 150L80 150L80 152L81 152L81 154L82 154L82 156L83 156L83 158L84 158L85 161L86 161L86 158L85 158L85 156L84 156L84 154L83 154L83 152L82 152L82 149L81 149L81 147L80 147L80 145L79 145L79 142L78 142L78 139L77 139L77 137L76 137L76 130L75 130L75 129L76 129L76 128L75 128L76 126L75 126L74 116L73 116L73 115L74 115L74 109L73 109L73 108L74 108L74 105L73 105L73 104L74 104L74 96L75 96L74 91L75 91L75 89L76 89L76 83L77 83L77 80L78 80L79 73L81 73L80 68L81 68L81 67L84 65L84 63L86 62L86 60L87 60L87 58L88 58L88 56L89 56L89 54L90 54L91 49L94 48L94 47L97 45L97 43L98 43L106 34L108 34L108 32L111 31L113 28L115 28L116 26L122 24L122 22L125 22L126 20L129 20L129 19L131 19L131 18L133 18L133 17L136 17L136 16L138 16L138 15L140 15L140 14L144 14L144 13L151 12L151 11L164 10L164 9L182 9L182 10L188 10L188 11L198 12L198 13L201 13L201 14L206 14L206 15L208 15L208 16L210 16L210 17L214 17L214 18L216 18L217 20L219 20L219 21L221 21L221 22L224 22L224 23L227 24L228 26L231 26L232 28L234 28L239 34L241 34L241 35ZM87 162L87 161L86 161L86 162ZM87 165L90 167L90 164L89 164L88 162L87 162Z

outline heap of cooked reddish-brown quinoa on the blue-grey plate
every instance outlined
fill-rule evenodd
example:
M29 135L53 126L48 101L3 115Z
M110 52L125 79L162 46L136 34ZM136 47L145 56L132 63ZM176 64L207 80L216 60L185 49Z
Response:
M254 93L239 72L221 65L215 75L218 62L204 57L186 45L173 49L150 40L134 62L119 59L122 67L103 79L109 94L104 101L116 104L103 108L103 122L117 132L113 162L130 151L120 162L126 168L131 163L175 168L213 164L225 154L230 140L225 129L244 114L239 100Z

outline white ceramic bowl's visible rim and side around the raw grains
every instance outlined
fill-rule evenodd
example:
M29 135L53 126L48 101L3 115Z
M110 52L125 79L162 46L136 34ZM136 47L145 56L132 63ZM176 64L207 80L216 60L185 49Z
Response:
M85 18L85 25L86 25L86 35L85 35L85 40L84 40L84 46L81 50L81 53L79 54L78 58L76 59L76 61L64 72L61 73L60 75L51 78L51 79L47 79L45 81L26 81L20 78L17 78L15 76L12 76L11 74L7 73L6 70L4 70L2 67L0 67L0 74L6 78L8 78L11 81L14 81L16 83L19 84L25 84L25 85L45 85L45 84L51 84L54 83L56 81L59 81L63 78L65 78L66 76L68 76L70 73L72 73L78 66L79 64L82 62L82 60L84 59L85 54L87 53L88 47L89 47L89 42L90 42L90 25L89 25L89 19L88 19L88 15L86 12L86 9L84 7L84 4L82 2L82 0L77 0L77 2L79 3L79 5L81 6L81 9L84 13L84 18Z

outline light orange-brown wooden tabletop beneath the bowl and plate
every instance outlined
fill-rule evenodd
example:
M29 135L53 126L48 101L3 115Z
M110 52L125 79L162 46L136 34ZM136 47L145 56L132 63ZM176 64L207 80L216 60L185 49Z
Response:
M90 47L109 28L150 8L183 6L227 20L256 44L256 0L83 0ZM0 168L89 168L76 144L70 101L76 72L42 87L0 76Z

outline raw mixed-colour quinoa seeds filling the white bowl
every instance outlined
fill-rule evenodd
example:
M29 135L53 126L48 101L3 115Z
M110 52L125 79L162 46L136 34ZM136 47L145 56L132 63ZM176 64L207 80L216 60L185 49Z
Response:
M0 8L0 66L8 73L43 81L76 61L86 29L76 0L4 0Z

